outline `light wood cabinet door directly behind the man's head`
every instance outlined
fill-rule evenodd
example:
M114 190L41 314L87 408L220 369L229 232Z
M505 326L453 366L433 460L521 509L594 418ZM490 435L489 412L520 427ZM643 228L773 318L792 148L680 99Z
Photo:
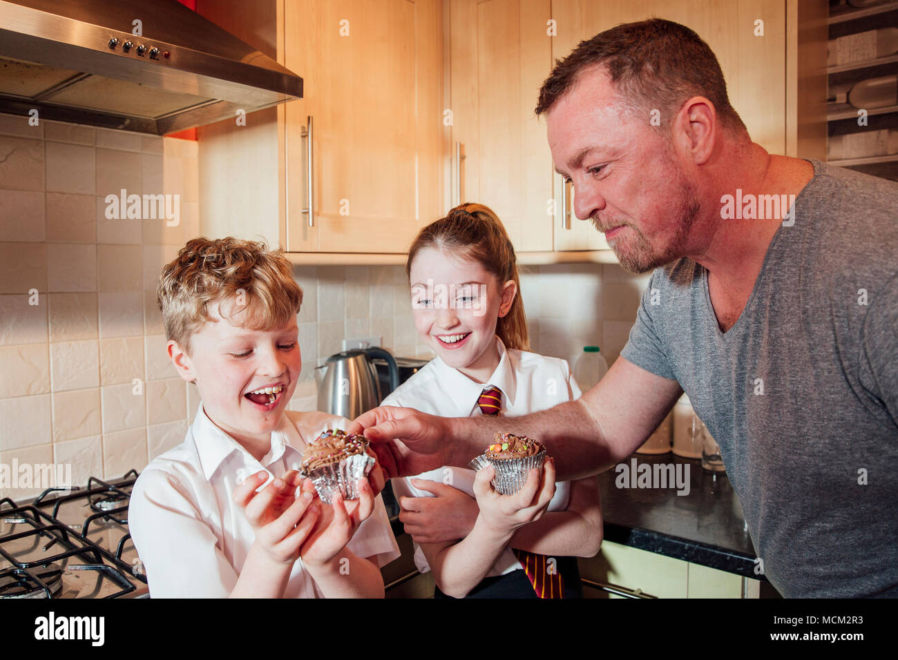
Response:
M730 102L754 142L771 154L786 149L786 3L784 0L552 0L558 35L552 57L566 57L581 40L622 22L652 16L686 25L718 57ZM762 21L762 24L757 23ZM762 34L761 30L762 28ZM556 176L556 198L561 182ZM570 191L568 198L572 198ZM568 202L569 203L569 202ZM571 207L572 208L572 207ZM555 226L556 250L607 248L603 234L573 211L569 229Z

